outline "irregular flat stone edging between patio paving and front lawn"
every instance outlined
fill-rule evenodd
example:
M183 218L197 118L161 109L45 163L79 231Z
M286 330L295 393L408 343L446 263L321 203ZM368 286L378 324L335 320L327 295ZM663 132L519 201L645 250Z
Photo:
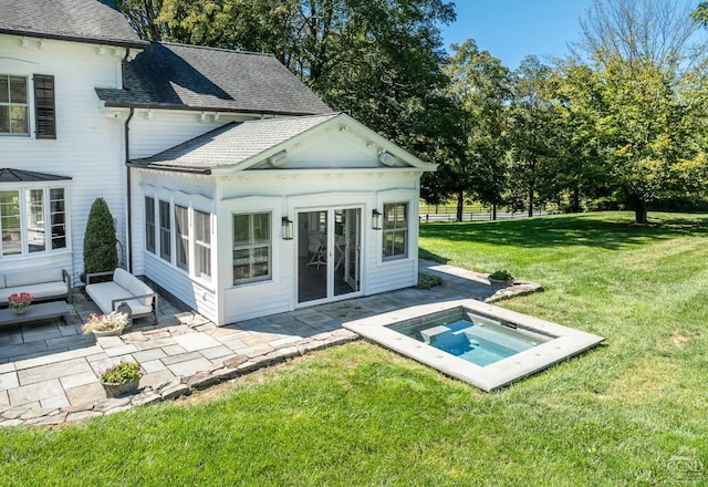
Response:
M61 408L45 407L38 410L31 406L14 406L0 413L0 426L55 426L92 417L107 416L144 404L176 400L190 395L194 391L201 391L257 370L305 355L315 350L342 345L360 338L356 333L345 329L319 333L261 355L252 358L246 355L232 356L215 365L209 371L197 372L190 376L178 376L154 386L146 386L139 393L127 397L105 398Z

